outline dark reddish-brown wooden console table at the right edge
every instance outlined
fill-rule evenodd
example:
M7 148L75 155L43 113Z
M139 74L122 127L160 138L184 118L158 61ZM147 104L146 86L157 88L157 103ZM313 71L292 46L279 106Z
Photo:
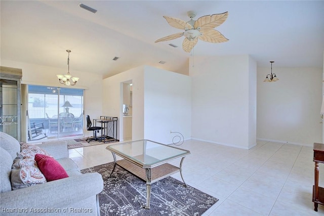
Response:
M324 163L324 144L314 143L313 147L315 162L315 184L313 185L314 210L317 211L318 204L324 205L324 188L318 187L319 163Z

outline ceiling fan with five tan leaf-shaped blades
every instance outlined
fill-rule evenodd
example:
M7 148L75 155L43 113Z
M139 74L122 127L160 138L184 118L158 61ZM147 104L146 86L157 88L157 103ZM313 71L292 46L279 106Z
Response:
M155 42L173 40L178 37L185 36L182 42L182 48L185 52L190 53L192 48L197 44L198 39L212 43L228 41L223 34L214 29L225 22L228 17L228 12L206 15L198 18L197 20L193 20L193 18L196 16L195 11L188 11L187 14L190 18L188 22L173 17L163 16L172 27L182 29L184 32L162 37L155 40Z

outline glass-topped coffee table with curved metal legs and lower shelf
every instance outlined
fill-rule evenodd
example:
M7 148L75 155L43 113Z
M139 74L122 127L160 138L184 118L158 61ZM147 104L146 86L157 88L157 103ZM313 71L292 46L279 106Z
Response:
M114 165L110 176L112 175L116 164L131 172L139 179L146 182L146 205L145 209L150 209L151 184L164 179L180 171L184 186L187 184L182 176L182 163L185 156L190 151L165 145L150 140L138 140L127 143L113 144L106 147L111 151ZM123 159L116 160L116 155ZM181 158L180 166L174 166L168 162Z

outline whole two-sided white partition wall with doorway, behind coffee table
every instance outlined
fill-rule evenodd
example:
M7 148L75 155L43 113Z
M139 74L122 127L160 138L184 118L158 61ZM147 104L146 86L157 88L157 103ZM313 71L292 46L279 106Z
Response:
M190 138L190 77L150 66L141 66L103 81L103 112L120 118L123 82L133 83L132 139L172 143L170 131ZM123 133L119 121L118 138Z

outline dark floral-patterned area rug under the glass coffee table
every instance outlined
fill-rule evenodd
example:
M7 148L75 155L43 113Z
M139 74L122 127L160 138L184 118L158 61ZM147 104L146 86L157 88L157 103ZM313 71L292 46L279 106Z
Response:
M201 215L218 199L193 187L184 187L172 177L151 185L150 209L146 204L146 184L113 162L83 169L81 172L99 172L104 181L99 194L101 215ZM143 170L144 171L144 170Z

